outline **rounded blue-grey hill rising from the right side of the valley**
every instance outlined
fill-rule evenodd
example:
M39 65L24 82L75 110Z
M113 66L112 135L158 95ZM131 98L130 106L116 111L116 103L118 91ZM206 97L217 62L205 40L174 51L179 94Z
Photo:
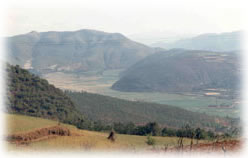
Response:
M239 83L237 54L173 49L155 53L133 65L112 88L133 92L190 92L237 89Z

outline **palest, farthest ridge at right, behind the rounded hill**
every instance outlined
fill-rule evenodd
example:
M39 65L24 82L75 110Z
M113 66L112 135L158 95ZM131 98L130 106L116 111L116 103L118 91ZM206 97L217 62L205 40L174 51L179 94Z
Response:
M178 40L173 43L159 42L151 46L165 49L183 48L207 51L237 51L241 50L241 31L222 34L202 34L193 38Z

